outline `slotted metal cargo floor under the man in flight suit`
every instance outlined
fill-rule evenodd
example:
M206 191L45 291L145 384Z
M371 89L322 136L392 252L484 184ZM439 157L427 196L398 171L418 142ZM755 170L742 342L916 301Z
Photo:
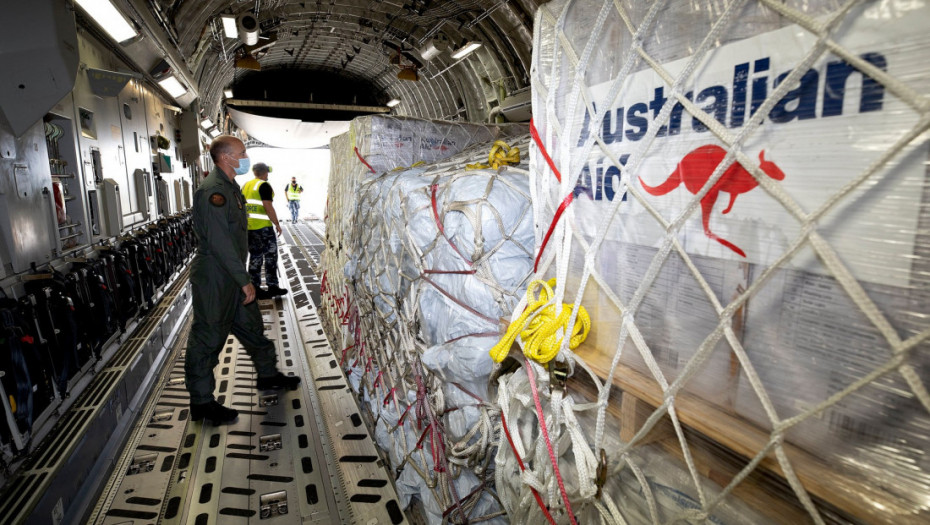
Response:
M278 367L299 375L301 388L256 390L252 362L230 336L216 396L239 418L191 421L188 320L89 523L406 522L316 314L322 247L310 225L287 224L279 266L291 293L259 303Z

